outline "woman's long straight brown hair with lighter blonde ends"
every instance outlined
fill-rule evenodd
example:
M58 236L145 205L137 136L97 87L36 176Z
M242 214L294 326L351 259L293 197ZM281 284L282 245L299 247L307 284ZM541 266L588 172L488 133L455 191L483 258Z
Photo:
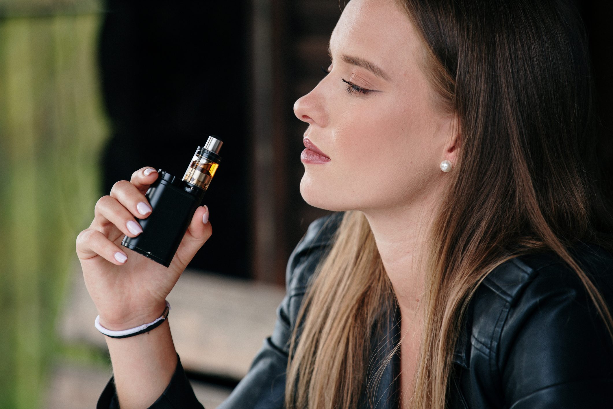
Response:
M555 252L581 278L613 337L603 297L569 251L588 242L613 253L613 216L597 155L587 35L570 2L397 3L421 36L438 108L459 118L460 156L428 240L424 336L410 400L411 408L442 409L468 302L509 258ZM371 327L394 300L364 213L345 212L291 338L287 408L356 407Z

